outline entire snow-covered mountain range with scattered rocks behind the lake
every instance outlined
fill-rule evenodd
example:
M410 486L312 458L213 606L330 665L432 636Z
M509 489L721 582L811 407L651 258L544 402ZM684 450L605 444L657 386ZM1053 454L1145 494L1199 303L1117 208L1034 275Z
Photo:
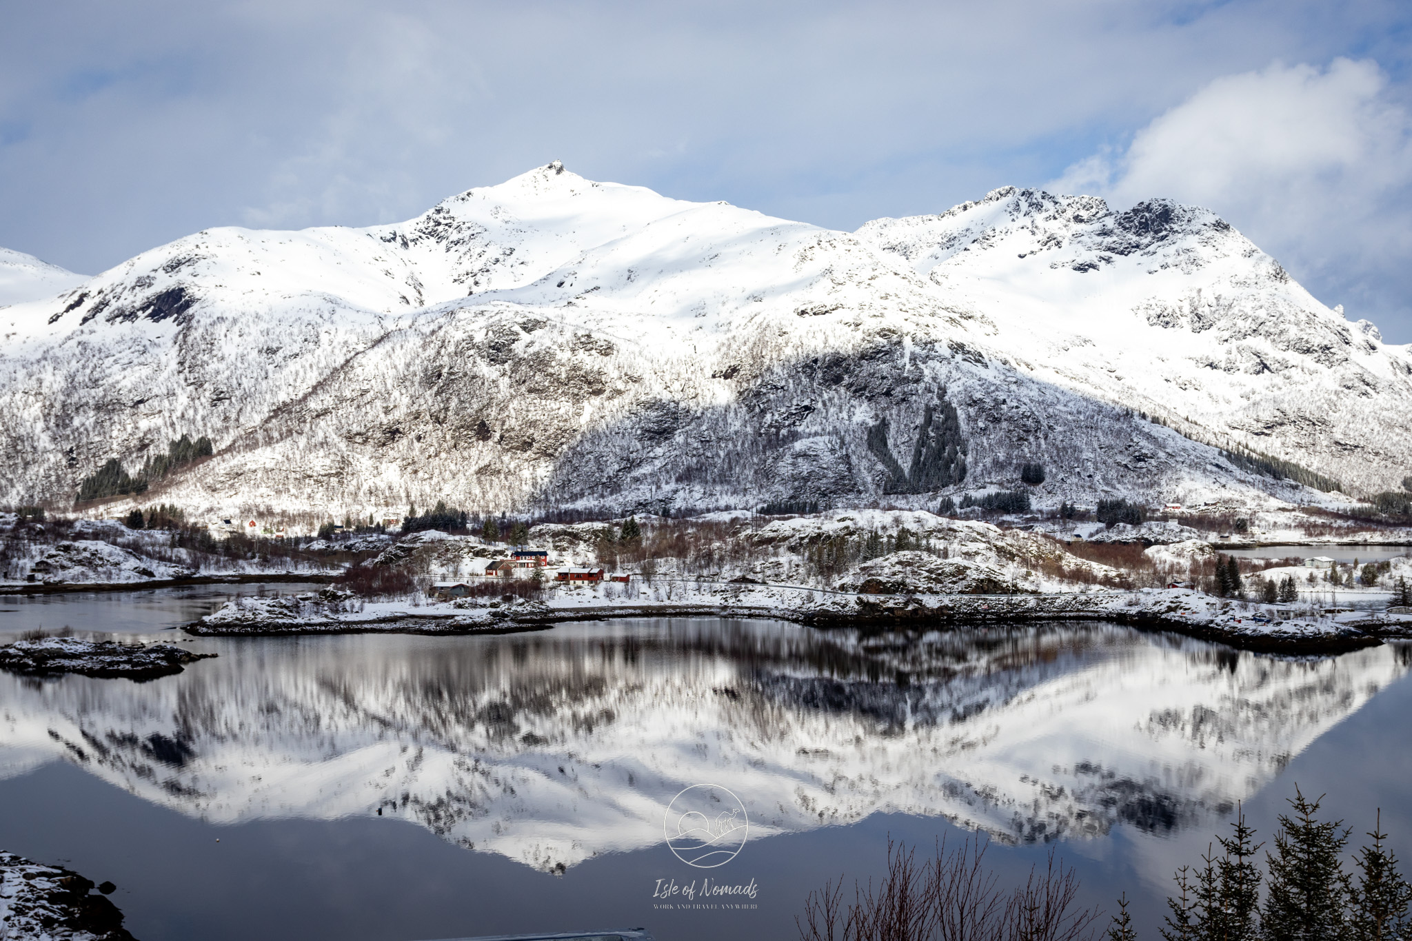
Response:
M857 234L559 164L408 223L217 229L0 310L0 501L182 433L151 499L401 512L1381 490L1412 357L1204 210L1000 189ZM955 411L953 411L955 409ZM966 467L960 478L960 456Z

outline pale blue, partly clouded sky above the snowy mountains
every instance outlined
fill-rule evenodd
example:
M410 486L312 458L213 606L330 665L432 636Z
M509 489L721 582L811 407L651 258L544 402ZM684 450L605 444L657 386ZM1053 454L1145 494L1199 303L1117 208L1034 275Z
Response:
M1171 196L1412 341L1406 3L0 4L0 245L76 271L562 159L837 229Z

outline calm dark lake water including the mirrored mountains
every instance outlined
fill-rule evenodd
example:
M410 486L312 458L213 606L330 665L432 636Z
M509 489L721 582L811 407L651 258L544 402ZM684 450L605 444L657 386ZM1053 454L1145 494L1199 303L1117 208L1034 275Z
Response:
M44 617L158 632L229 590L203 591ZM0 673L0 848L112 879L147 941L788 938L809 889L881 870L890 834L962 828L1007 875L1056 846L1090 903L1125 890L1155 937L1172 869L1237 801L1268 834L1295 782L1360 832L1381 806L1412 858L1412 657L1392 646L1286 660L1100 624L726 619L185 643L219 657L145 684ZM713 870L664 838L702 783L750 818ZM731 899L754 907L655 907L658 880L703 878L754 882Z

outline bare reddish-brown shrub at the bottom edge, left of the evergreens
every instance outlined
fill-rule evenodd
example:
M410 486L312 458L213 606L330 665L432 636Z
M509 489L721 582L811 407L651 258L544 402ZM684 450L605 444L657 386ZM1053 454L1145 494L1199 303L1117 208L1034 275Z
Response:
M966 838L931 859L888 839L887 875L874 887L843 879L809 893L795 918L801 941L1080 941L1093 937L1100 911L1077 904L1079 878L1049 851L1022 886L1005 890L986 866L988 841Z

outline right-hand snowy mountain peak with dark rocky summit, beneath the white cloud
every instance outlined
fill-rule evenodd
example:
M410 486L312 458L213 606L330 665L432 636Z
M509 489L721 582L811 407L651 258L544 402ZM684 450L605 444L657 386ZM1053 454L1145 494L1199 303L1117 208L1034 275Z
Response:
M1408 347L1324 308L1204 209L1115 213L1007 186L858 234L990 319L1036 378L1367 488L1412 459Z

